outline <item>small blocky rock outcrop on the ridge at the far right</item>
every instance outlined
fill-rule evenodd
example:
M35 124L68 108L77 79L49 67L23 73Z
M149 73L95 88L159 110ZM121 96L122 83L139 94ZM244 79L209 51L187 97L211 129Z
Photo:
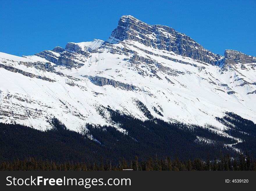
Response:
M225 64L256 63L256 57L248 56L237 50L225 50L224 58L225 58L225 61L224 61Z

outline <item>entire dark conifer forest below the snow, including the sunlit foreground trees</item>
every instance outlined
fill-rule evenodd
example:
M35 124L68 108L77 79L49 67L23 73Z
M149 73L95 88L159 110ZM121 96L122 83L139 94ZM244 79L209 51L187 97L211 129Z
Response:
M78 133L56 118L47 131L0 123L0 170L256 170L256 125L234 113L216 118L228 137L211 125L141 121L105 109L127 133L92 124Z

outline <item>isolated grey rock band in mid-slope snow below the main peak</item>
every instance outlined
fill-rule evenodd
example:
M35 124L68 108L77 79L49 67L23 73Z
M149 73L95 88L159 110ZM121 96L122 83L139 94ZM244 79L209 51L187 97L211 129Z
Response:
M96 86L105 86L105 85L111 85L115 88L121 88L123 90L136 90L136 86L133 86L131 84L122 83L119 81L115 81L112 79L107 79L104 77L99 76L89 76L88 79Z

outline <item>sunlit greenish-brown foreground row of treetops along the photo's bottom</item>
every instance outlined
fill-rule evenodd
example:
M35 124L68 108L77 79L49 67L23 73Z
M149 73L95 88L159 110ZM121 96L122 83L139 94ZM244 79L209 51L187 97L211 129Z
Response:
M229 154L220 154L218 157L214 157L213 161L209 160L209 154L207 154L207 160L202 161L199 158L194 160L179 160L176 157L171 160L170 157L158 159L157 156L154 158L149 157L145 161L139 161L138 157L135 156L133 160L129 162L124 158L118 162L104 161L103 157L100 157L99 162L90 163L87 162L65 162L56 163L48 160L37 160L36 158L26 158L24 160L16 159L12 162L3 161L0 163L0 170L76 170L76 171L103 171L103 170L123 170L132 169L136 171L198 171L198 170L256 170L256 159L249 156L248 153L245 155L240 153L237 158L230 158Z

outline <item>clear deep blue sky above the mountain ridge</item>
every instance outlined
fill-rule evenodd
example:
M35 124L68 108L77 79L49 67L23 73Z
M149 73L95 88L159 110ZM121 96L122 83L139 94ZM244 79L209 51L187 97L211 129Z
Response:
M122 15L167 25L206 49L256 56L256 0L0 0L0 52L31 55L67 42L106 40Z

